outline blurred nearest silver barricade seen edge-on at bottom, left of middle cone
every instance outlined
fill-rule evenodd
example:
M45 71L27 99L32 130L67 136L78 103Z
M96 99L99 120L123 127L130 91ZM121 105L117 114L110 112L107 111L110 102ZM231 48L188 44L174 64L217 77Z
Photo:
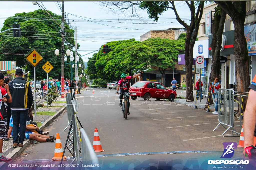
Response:
M81 151L82 151L82 164L83 165L99 165L99 160L93 149L93 146L84 129L80 129L81 133ZM97 169L95 166L93 169Z

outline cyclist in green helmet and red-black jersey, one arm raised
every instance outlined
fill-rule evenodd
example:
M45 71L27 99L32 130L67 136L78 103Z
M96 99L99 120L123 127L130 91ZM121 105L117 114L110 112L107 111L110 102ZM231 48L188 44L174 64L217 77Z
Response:
M129 93L129 85L130 85L130 80L131 79L134 79L136 77L138 77L139 75L141 75L143 72L141 72L140 74L136 74L136 75L133 75L133 76L126 76L125 73L122 73L121 74L121 80L119 80L118 82L118 85L117 85L117 89L116 89L116 92L115 94L118 94L118 91L119 91L119 88L120 88L120 92L121 93ZM120 99L120 103L119 103L119 106L122 107L122 100L123 100L123 94L121 94L119 96L119 99ZM129 101L129 97L127 98L128 99L128 103L127 103L127 115L130 114L129 112L129 108L130 108L130 101Z

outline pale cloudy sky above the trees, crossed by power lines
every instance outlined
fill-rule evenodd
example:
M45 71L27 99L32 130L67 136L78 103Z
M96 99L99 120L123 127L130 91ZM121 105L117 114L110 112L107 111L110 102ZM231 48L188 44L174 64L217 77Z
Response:
M59 3L60 6L62 2ZM47 10L62 15L57 2L43 2ZM4 20L16 13L30 12L40 9L32 2L0 2L0 29ZM177 11L182 19L190 21L190 10L185 2L176 2ZM166 30L168 28L182 28L176 20L173 10L168 9L160 16L158 22L148 19L146 10L138 10L140 18L127 15L114 14L108 8L102 7L98 2L64 2L64 12L72 27L77 28L77 42L80 45L78 53L82 55L100 49L103 44L111 41L128 40L140 36L150 30ZM126 12L127 14L127 12ZM48 22L48 21L46 21ZM75 28L73 28L75 29ZM38 51L40 53L40 51ZM97 52L95 52L97 53ZM93 53L82 57L88 61Z

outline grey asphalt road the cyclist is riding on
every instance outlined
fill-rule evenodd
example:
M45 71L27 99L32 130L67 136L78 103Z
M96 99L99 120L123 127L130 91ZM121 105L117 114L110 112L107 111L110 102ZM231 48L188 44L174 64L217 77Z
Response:
M79 103L77 115L91 143L94 129L98 128L101 145L105 149L96 153L101 155L101 163L123 163L127 160L143 162L149 159L167 162L219 159L223 152L223 142L239 143L239 137L223 137L221 134L225 128L221 125L212 131L218 125L218 116L205 110L162 99L145 101L138 98L130 99L131 114L125 120L115 90L89 89L81 93L83 94L76 96ZM62 130L67 125L67 113L63 113L58 121L46 129L50 131L50 136L60 133L62 147L65 145L68 129L65 132ZM23 160L51 159L54 156L55 143L33 145L35 147ZM135 155L121 156L124 153ZM71 156L67 150L65 155ZM234 157L241 156L242 148L237 148Z

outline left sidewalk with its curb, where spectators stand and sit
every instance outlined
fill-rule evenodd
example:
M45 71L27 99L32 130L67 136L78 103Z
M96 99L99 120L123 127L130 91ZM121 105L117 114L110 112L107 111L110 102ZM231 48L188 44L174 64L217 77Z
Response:
M45 127L47 127L52 122L52 120L54 120L59 114L61 114L66 109L66 98L58 97L56 102L52 102L51 106L48 106L48 108L46 106L46 103L44 104L45 104L45 107L38 107L37 109L38 114L36 116L36 120L35 120L35 115L33 114L34 122L37 122L37 124L40 126L39 127L40 130L43 130ZM34 112L34 109L32 112ZM52 112L52 113L41 115L42 112L47 112L47 113ZM9 141L3 142L2 153L4 156L6 156L7 158L12 158L12 161L14 161L20 155L20 153L26 149L26 147L30 144L30 142L33 142L33 141L24 140L23 142L24 147L22 148L17 147L13 149L12 148L13 139L10 138ZM10 163L10 161L7 163ZM4 164L5 162L0 162L0 167Z

